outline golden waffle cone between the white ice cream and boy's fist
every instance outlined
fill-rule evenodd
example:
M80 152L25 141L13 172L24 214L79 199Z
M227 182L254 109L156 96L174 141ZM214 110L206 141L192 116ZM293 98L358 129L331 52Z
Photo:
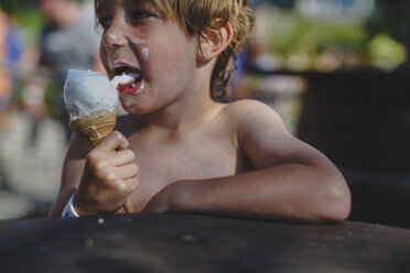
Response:
M73 121L69 127L79 136L96 146L107 134L111 133L117 120L117 112L107 110L95 111Z

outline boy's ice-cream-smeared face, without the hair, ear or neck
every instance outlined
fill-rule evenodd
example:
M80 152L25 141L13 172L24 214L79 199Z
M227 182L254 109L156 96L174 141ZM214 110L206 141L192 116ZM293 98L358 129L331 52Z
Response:
M104 29L100 57L112 78L134 78L119 88L130 113L155 111L195 83L196 43L179 24L165 20L147 1L102 0L97 17Z

